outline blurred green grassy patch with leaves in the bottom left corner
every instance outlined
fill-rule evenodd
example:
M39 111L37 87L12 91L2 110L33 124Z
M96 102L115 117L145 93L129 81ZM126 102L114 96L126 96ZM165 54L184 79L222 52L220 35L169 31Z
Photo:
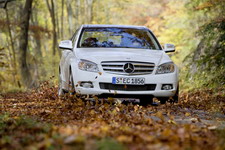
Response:
M50 124L41 123L35 119L9 114L0 115L0 149L23 148L33 143L42 142L51 133Z

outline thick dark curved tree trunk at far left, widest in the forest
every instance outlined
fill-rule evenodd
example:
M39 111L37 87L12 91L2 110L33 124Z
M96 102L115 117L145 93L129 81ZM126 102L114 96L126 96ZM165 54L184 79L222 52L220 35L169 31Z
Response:
M31 74L29 72L29 68L27 66L27 45L28 45L28 29L29 29L29 20L30 14L32 10L32 2L33 0L26 0L25 6L21 13L21 23L20 23L20 46L19 46L19 61L20 61L20 73L22 76L23 84L26 87L31 87Z

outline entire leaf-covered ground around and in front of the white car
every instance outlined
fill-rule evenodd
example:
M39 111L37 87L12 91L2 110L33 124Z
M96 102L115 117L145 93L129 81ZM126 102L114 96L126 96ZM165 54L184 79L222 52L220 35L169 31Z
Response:
M179 103L58 98L43 85L0 97L0 149L225 149L225 89Z

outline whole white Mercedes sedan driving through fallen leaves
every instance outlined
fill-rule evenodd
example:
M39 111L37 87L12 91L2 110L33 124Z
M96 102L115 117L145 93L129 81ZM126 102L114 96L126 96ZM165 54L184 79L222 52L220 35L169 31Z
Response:
M59 48L59 95L178 101L178 68L166 54L175 47L165 44L163 49L146 27L82 25Z

